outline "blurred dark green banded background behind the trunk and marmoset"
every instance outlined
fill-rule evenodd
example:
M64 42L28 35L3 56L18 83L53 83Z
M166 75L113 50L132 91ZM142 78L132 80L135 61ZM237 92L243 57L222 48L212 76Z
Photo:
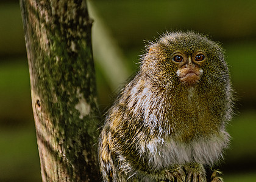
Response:
M256 181L256 1L90 1L99 108L138 68L144 42L196 30L226 49L238 101L224 180ZM41 181L18 1L0 2L0 181Z

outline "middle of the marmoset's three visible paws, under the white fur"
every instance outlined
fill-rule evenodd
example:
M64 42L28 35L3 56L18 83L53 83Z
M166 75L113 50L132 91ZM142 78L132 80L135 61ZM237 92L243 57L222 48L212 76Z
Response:
M184 166L187 174L186 182L206 182L204 166L202 164L190 163Z

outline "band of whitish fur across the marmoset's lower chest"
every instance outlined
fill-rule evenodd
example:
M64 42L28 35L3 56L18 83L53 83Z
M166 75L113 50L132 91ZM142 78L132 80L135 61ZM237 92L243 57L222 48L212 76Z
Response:
M227 132L221 132L218 136L212 135L183 144L158 137L141 147L140 154L145 155L156 169L191 162L213 165L222 158L222 150L229 144L229 138Z

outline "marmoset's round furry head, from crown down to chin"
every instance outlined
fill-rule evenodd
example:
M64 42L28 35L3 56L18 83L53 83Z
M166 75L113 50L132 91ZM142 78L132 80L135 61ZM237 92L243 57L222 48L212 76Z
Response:
M167 33L148 45L141 73L165 88L211 87L212 83L225 83L229 79L223 53L216 42L198 33Z

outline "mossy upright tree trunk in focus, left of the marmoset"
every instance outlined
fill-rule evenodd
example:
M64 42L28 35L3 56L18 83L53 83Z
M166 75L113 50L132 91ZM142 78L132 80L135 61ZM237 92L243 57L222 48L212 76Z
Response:
M43 181L100 181L86 1L20 0Z

